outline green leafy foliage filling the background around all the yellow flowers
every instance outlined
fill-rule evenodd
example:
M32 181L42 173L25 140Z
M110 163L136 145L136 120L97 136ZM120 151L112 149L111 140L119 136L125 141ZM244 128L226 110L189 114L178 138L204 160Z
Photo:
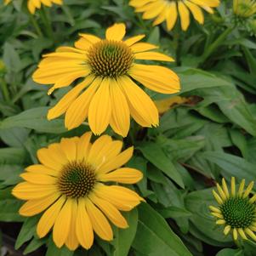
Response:
M247 183L256 179L256 43L252 20L237 19L232 1L222 1L204 26L194 20L183 32L152 27L127 0L65 0L65 5L28 14L26 1L0 1L0 246L13 253L62 256L255 256L256 244L236 247L210 216L215 182L222 177ZM37 149L61 137L81 135L82 125L67 132L63 119L48 122L49 105L68 90L47 95L47 87L31 80L43 53L72 45L79 32L104 37L105 28L125 22L128 36L145 33L146 41L176 60L168 65L179 74L184 104L172 105L158 128L133 123L125 145L134 145L128 166L145 175L136 190L143 203L126 213L130 228L114 229L115 239L96 239L89 251L58 249L52 238L39 240L38 216L18 214L22 202L11 196L19 174L36 163ZM162 65L166 65L162 63ZM154 100L169 95L147 90ZM108 134L112 134L111 130ZM157 156L157 157L156 157ZM12 250L14 244L15 250ZM17 254L13 254L17 255ZM32 254L31 254L32 255Z

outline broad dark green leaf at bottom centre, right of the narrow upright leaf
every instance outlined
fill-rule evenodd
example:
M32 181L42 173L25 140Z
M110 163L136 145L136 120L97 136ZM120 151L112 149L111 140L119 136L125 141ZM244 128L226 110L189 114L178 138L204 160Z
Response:
M192 256L165 219L150 205L139 205L139 223L133 247L151 256Z

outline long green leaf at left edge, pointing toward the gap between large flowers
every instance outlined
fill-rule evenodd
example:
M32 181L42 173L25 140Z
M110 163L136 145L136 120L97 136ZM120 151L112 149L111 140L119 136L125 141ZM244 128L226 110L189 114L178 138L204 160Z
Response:
M23 111L17 116L8 117L0 122L0 129L21 127L31 128L42 133L61 134L66 131L61 119L48 121L47 107L38 107Z

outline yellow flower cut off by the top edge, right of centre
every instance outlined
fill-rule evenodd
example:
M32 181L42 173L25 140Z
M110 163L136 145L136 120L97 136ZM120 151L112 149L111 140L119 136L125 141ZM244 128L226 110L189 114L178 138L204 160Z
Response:
M190 26L190 11L194 19L203 24L202 9L213 14L213 8L219 6L219 0L130 0L136 12L144 13L144 20L155 19L153 25L166 20L168 31L174 28L178 15L181 28L186 31Z

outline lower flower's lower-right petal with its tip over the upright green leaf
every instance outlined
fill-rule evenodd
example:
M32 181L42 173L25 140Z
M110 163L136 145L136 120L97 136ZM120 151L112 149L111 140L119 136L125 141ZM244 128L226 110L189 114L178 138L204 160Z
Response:
M89 196L91 201L98 207L100 210L105 213L105 216L111 220L114 225L117 225L119 228L127 228L128 223L126 219L122 217L122 214L115 208L110 202L100 199L98 196L92 195Z

